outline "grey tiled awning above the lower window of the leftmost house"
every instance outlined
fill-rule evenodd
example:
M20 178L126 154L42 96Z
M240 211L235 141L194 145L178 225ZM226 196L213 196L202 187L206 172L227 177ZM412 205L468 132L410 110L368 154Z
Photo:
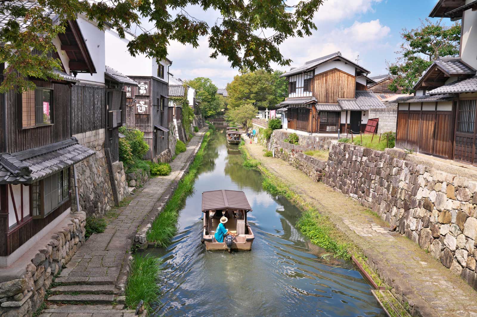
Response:
M31 184L87 159L95 152L69 140L31 148L17 153L0 154L0 184Z

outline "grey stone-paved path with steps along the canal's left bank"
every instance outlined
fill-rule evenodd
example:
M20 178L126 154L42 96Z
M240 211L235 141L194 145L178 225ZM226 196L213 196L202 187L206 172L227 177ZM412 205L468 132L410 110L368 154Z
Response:
M202 128L187 144L186 152L177 155L170 163L168 176L150 178L137 192L119 216L109 222L106 230L93 234L66 264L55 282L62 286L52 288L50 303L110 304L108 305L51 305L40 317L126 317L135 311L121 310L123 305L111 306L116 300L124 301L127 278L127 258L135 233L156 203L165 199L164 193L183 174L187 163L193 159L207 128ZM118 307L120 306L120 307ZM120 310L118 310L119 308Z

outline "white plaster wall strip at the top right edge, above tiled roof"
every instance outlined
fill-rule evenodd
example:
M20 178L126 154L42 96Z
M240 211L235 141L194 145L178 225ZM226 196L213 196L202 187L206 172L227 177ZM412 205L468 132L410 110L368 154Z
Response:
M472 0L466 0L466 4ZM464 11L462 20L461 58L477 69L477 11Z

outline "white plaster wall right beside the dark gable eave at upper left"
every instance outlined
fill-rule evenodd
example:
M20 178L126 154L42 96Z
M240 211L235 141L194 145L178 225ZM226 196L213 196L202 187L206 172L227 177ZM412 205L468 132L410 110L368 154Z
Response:
M78 79L92 81L104 84L104 65L105 65L105 43L104 31L98 29L92 21L84 20L81 17L77 19L84 41L93 60L96 73L86 74L80 73L76 77Z

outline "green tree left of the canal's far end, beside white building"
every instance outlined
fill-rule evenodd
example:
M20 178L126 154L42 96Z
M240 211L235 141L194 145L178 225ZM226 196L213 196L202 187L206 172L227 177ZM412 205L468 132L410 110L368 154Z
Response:
M205 117L214 116L220 110L219 95L217 95L217 86L207 77L197 77L187 80L186 85L196 90L197 108L200 109Z

